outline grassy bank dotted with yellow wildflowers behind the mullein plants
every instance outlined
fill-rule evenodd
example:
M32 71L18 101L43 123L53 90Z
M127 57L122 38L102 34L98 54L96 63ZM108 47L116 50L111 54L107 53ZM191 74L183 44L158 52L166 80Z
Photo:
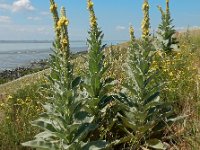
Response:
M171 64L164 64L168 65L169 70L166 70L164 75L170 82L162 94L168 95L166 100L174 101L178 114L187 117L181 124L169 128L166 135L167 132L174 133L174 136L170 137L171 148L196 150L200 146L198 117L200 115L200 31L179 33L177 37L180 41L180 55ZM110 75L119 81L116 91L121 90L119 85L124 80L121 66L125 63L128 45L124 43L105 50L106 62L111 65L105 76ZM72 63L76 68L75 74L85 73L87 57L87 54L80 53L72 58ZM30 121L37 118L43 111L41 103L45 101L45 98L41 97L41 91L38 89L41 86L48 86L44 78L45 74L49 74L48 69L0 85L0 104L4 112L4 115L1 115L1 149L23 149L20 143L30 140L39 132L30 126Z

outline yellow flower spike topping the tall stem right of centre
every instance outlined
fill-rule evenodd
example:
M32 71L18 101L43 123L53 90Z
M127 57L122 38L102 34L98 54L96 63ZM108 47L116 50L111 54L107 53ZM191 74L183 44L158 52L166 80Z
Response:
M144 13L144 18L142 21L142 38L148 39L150 36L150 18L149 18L149 3L148 0L144 0L144 4L142 6L142 10Z

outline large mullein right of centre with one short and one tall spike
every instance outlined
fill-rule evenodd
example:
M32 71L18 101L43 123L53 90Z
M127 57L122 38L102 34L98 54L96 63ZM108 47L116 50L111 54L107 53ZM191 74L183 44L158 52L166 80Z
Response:
M149 4L143 4L142 41L136 42L134 29L130 27L130 47L127 61L127 80L118 98L124 110L118 113L121 129L126 133L112 145L128 149L166 149L162 142L164 131L174 121L170 104L160 99L158 71L151 69L155 48L149 33Z

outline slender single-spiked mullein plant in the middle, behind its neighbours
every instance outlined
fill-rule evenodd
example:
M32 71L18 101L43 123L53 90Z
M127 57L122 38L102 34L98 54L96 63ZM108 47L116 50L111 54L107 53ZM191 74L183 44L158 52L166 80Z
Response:
M97 18L95 16L94 4L91 0L87 0L87 9L90 14L90 30L88 43L88 70L84 88L88 95L86 97L86 108L95 116L94 122L98 122L101 109L112 101L109 95L114 84L114 79L104 78L104 74L108 70L109 64L105 63L104 50L106 45L102 44L103 33L98 27Z

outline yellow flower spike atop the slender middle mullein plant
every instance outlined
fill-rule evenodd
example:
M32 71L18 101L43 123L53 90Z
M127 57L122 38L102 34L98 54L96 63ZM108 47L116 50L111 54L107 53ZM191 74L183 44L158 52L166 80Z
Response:
M97 28L97 18L95 16L93 6L94 6L93 2L91 0L88 0L87 1L87 9L90 12L90 26L92 29L95 29L95 28Z

